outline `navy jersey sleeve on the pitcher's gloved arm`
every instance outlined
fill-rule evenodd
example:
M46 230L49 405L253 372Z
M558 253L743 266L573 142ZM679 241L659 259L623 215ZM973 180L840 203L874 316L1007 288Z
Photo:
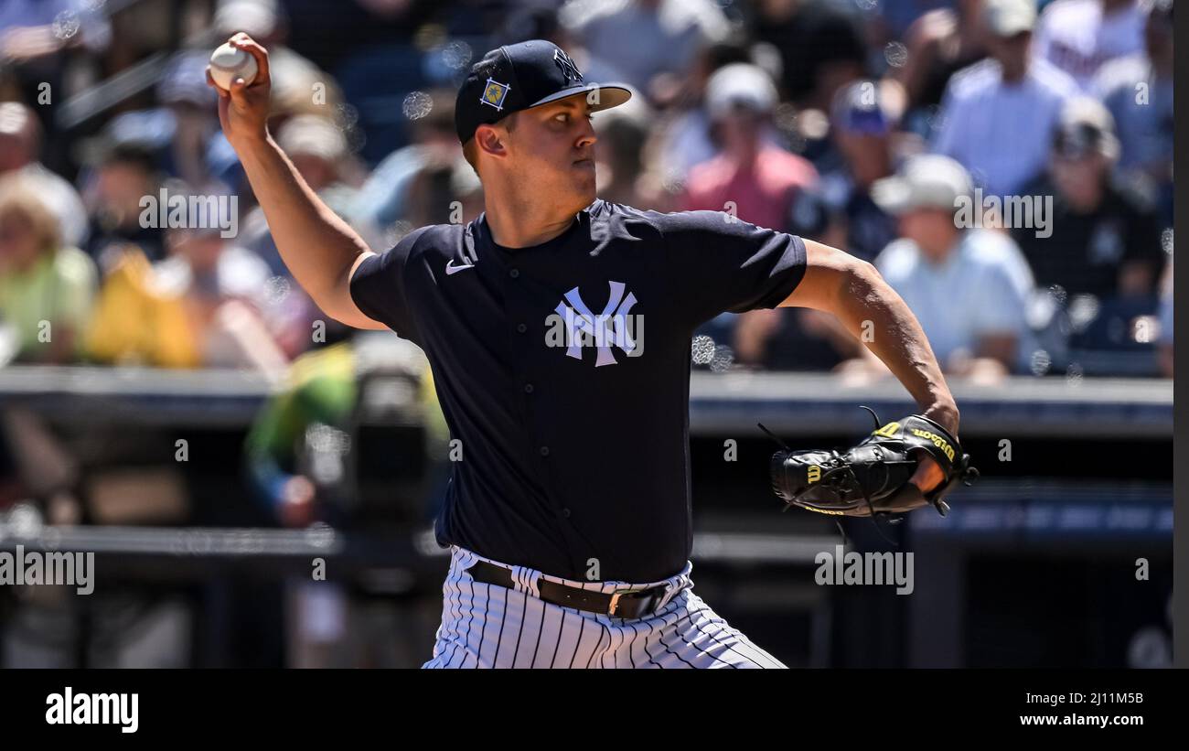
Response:
M691 326L721 313L775 308L805 276L805 242L723 212L656 215L673 303Z

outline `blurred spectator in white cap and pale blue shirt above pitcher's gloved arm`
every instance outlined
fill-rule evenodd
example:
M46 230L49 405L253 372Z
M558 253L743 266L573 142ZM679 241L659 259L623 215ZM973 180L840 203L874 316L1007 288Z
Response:
M1032 273L1006 235L958 226L956 207L971 191L962 165L937 154L913 157L876 182L872 195L899 217L901 236L875 267L920 321L946 373L996 379L1021 361Z

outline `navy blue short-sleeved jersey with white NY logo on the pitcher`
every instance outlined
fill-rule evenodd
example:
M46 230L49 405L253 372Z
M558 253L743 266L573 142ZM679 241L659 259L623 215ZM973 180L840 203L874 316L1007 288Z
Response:
M804 274L795 235L602 200L533 247L496 245L480 215L365 260L356 304L424 349L461 442L439 544L568 579L680 572L693 329Z

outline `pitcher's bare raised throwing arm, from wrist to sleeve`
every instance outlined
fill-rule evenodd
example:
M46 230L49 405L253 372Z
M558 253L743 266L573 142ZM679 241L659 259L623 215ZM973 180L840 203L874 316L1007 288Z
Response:
M271 135L244 146L240 163L289 272L328 316L358 328L384 328L351 299L351 273L372 252L317 197Z

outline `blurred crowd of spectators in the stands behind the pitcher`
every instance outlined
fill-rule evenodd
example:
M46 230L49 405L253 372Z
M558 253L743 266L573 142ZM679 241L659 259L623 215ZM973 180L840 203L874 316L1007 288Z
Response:
M547 38L636 93L594 116L600 197L872 261L949 373L1172 374L1172 0L6 0L0 362L278 374L328 343L205 81L237 31L377 251L482 212L457 83ZM158 221L175 198L206 221ZM699 367L882 367L810 310L698 335Z

